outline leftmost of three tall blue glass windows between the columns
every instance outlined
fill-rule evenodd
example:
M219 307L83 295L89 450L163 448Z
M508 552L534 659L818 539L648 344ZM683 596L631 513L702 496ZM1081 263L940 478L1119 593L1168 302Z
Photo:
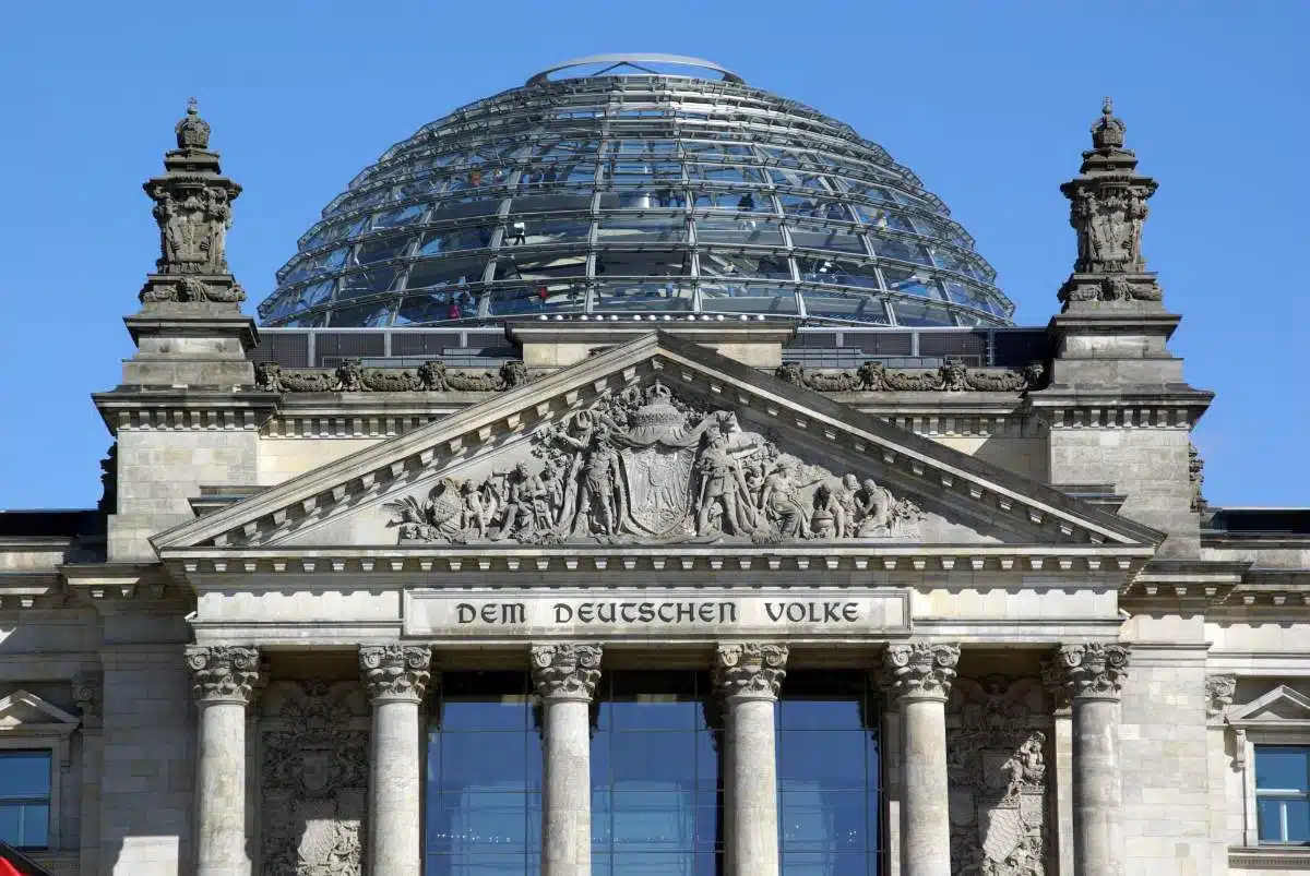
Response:
M424 876L541 872L541 739L527 673L441 677L427 732Z

